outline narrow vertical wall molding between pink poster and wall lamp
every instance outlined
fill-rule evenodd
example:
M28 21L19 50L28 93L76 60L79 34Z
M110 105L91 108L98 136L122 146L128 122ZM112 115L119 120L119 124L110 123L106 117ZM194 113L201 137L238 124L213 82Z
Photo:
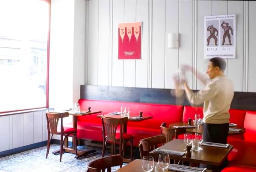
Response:
M148 0L148 88L152 88L153 1Z

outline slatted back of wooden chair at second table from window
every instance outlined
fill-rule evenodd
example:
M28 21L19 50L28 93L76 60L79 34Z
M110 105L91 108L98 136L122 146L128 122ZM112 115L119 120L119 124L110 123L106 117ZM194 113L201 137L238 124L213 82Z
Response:
M123 130L124 124L127 123L128 117L124 118L106 118L102 117L102 134L103 137L108 136L109 141L116 140L116 130L118 125L120 125L120 141L123 140Z

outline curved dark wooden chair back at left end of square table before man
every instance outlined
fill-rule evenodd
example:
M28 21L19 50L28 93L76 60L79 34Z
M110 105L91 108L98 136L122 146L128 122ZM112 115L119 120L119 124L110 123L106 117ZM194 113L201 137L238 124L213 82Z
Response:
M162 146L166 143L166 138L164 135L147 137L140 140L139 150L140 150L140 158L143 156L148 156L149 152Z

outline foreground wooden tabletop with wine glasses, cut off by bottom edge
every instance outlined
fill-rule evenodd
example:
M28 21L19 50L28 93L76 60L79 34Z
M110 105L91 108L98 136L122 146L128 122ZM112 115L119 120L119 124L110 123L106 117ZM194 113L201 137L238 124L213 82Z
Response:
M155 165L156 164L157 162L155 162ZM116 172L144 172L141 165L142 165L142 160L136 159L136 160L133 160L131 163L125 165L124 167L118 169ZM174 171L168 170L168 172L174 172ZM207 169L206 172L212 172L212 171Z

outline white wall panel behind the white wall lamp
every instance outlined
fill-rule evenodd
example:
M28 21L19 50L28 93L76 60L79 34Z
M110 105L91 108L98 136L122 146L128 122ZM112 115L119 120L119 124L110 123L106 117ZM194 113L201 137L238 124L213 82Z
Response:
M168 33L179 32L179 1L165 4L165 88L174 88L172 75L178 70L179 48L168 48Z

